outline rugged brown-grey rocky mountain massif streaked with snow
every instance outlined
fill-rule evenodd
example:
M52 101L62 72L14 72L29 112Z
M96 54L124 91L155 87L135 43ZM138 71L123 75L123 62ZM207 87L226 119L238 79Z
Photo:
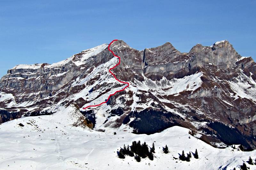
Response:
M118 59L107 47L84 50L59 63L18 65L8 70L0 80L0 107L19 117L28 112L54 112L68 103L76 103L81 111L101 103L125 86L108 72ZM113 72L130 86L107 104L84 112L88 118L95 117L95 130L122 129L125 124L143 132L138 122L151 121L145 117L147 109L148 115L161 119L161 127L175 124L193 129L212 145L230 143L209 123L229 124L241 133L245 147L255 148L256 64L251 57L237 54L228 41L197 44L188 53L180 53L169 42L139 51L119 40L110 48L121 57ZM139 121L140 113L145 122ZM13 118L12 114L10 120Z

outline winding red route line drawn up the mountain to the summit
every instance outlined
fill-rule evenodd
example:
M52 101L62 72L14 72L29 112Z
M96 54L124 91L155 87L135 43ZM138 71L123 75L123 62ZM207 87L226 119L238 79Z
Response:
M113 40L112 42L110 42L110 44L108 45L108 51L110 51L115 57L117 57L117 58L119 59L119 62L118 62L114 67L110 68L108 71L114 76L114 78L115 78L117 81L119 81L120 83L127 84L127 86L125 86L125 87L124 87L123 89L121 89L121 90L117 90L117 91L114 92L113 94L110 94L110 95L108 96L108 99L107 99L106 101L104 101L104 102L102 102L102 103L100 103L100 104L98 104L98 105L90 105L90 106L84 107L83 109L87 109L88 107L96 107L96 106L102 105L103 103L107 103L108 100L109 100L109 98L110 98L111 96L114 96L117 92L122 92L122 91L124 91L127 87L129 87L129 83L128 83L128 82L123 82L123 81L118 80L118 79L116 78L116 76L114 75L114 73L111 71L111 70L114 69L116 66L118 66L118 65L120 64L120 62L121 62L121 58L120 58L119 56L115 55L114 52L109 48L110 45L111 45L114 41L118 41L118 40Z

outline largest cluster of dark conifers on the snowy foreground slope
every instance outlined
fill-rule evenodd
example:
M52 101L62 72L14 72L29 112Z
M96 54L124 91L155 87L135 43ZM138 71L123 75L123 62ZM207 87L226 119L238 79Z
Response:
M141 158L147 158L150 160L154 159L154 155L153 153L155 153L155 144L152 144L152 148L150 148L150 150L148 149L148 145L146 144L146 142L144 142L143 144L140 143L140 141L136 142L133 141L132 145L129 146L127 145L127 147L124 145L124 148L120 148L119 152L118 152L118 157L121 159L125 158L125 155L129 155L131 157L134 156L134 159L138 162L140 162Z

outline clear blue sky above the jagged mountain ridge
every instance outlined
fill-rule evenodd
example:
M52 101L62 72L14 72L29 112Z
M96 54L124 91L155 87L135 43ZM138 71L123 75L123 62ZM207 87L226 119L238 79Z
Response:
M55 63L122 39L181 52L228 40L256 58L256 0L0 0L0 77L17 64Z

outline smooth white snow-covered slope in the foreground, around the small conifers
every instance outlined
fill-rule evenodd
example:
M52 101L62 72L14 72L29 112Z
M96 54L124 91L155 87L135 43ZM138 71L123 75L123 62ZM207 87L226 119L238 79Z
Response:
M105 132L79 125L80 112L74 105L61 107L53 115L24 117L0 125L0 169L239 169L249 156L255 159L256 151L242 152L228 147L214 148L188 134L189 129L174 126L161 133L136 135L126 126ZM60 116L61 114L61 116ZM22 123L24 126L20 126ZM74 126L76 125L76 127ZM78 126L77 126L78 125ZM127 131L124 131L127 130ZM113 132L116 131L116 135ZM189 138L190 137L190 138ZM117 150L132 141L154 142L154 160L136 162L133 157L117 157ZM169 147L165 154L162 147ZM237 147L237 146L236 146ZM190 162L178 158L198 150L199 159ZM232 151L233 150L233 151ZM247 163L246 163L247 164ZM249 166L247 164L247 166ZM250 167L256 169L256 165Z

